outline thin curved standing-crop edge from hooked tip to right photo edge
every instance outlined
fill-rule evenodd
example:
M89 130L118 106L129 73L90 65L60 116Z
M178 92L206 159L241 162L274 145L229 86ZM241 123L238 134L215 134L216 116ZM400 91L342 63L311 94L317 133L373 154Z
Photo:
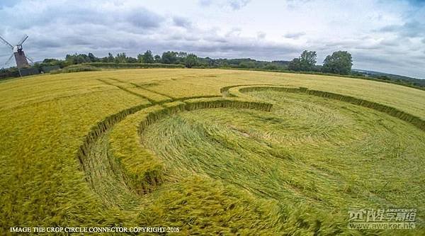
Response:
M374 101L368 101L365 99L358 99L353 96L347 96L342 94L335 94L327 91L319 91L319 90L312 90L307 89L305 87L287 87L287 86L232 86L227 90L227 93L230 96L238 96L248 99L249 95L244 94L249 91L262 91L262 90L275 90L275 91L285 91L285 92L291 92L291 93L304 93L309 94L313 96L319 96L327 99L335 99L339 101L344 101L347 103L352 103L358 106L363 106L365 108L371 108L375 111L380 111L383 113L387 113L390 116L393 116L395 118L399 118L400 120L404 120L407 123L410 123L416 128L419 128L420 130L425 131L425 120L422 120L421 118L414 116L412 114L406 113L404 111L400 111L397 108L393 108L392 106L383 105L381 103L376 103Z

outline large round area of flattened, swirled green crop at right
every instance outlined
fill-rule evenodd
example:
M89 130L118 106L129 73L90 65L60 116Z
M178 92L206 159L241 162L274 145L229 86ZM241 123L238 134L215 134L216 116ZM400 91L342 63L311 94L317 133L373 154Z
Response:
M147 127L142 143L164 163L166 181L208 176L286 210L314 206L321 219L424 200L425 134L414 125L307 94L247 94L272 111L204 109Z

